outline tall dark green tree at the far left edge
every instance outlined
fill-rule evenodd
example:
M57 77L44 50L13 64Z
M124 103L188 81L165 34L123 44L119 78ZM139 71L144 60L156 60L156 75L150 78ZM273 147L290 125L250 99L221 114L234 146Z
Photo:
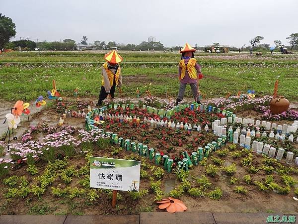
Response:
M2 51L4 44L8 43L9 39L15 34L15 24L12 19L0 13L0 51Z

